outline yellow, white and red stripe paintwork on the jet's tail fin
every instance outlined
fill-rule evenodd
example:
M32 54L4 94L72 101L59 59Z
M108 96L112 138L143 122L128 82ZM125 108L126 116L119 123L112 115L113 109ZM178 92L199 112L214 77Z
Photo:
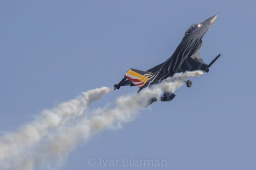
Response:
M138 88L142 88L143 85L145 85L145 83L148 81L148 77L132 71L131 69L127 71L125 77L128 78Z

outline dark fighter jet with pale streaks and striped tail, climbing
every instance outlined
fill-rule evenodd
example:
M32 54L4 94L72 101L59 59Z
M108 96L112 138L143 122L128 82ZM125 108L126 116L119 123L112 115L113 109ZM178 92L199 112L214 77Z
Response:
M201 58L200 49L203 45L202 38L204 34L213 26L217 15L214 15L207 20L196 23L190 26L185 35L169 59L165 62L150 68L147 71L141 71L130 68L125 77L118 83L113 85L114 90L119 89L121 86L130 85L140 88L148 88L151 85L158 84L168 77L172 77L175 73L185 71L202 70L208 72L212 64L221 56L219 54L212 62L206 64ZM190 80L186 81L187 87L192 86ZM160 101L170 101L175 97L175 94L165 92L160 98ZM149 105L155 102L156 99L151 99Z

